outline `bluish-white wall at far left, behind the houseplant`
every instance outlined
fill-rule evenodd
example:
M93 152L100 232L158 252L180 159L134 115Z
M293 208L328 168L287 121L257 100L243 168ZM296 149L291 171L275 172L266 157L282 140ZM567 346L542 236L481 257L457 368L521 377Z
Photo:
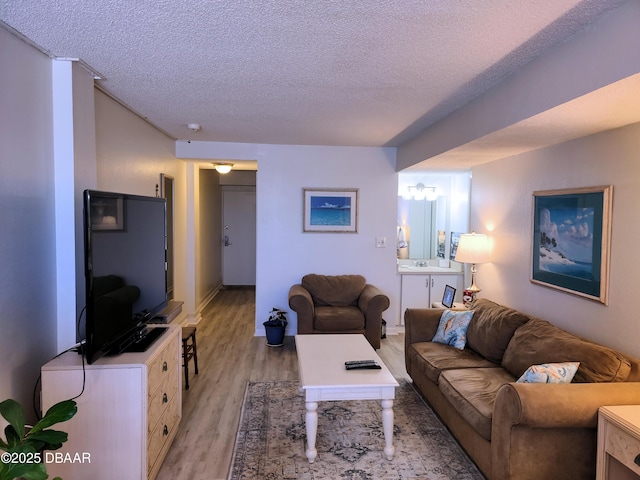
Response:
M51 61L2 28L0 45L0 401L29 406L57 353Z

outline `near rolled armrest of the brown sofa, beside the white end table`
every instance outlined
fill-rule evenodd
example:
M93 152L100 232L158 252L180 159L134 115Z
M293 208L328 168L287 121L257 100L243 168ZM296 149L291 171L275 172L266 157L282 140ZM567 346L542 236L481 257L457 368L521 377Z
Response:
M640 383L507 383L496 395L491 478L593 478L598 408L640 403Z

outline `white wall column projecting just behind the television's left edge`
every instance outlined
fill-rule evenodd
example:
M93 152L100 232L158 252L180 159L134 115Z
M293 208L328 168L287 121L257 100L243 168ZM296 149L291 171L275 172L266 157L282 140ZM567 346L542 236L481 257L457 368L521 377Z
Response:
M95 186L93 77L77 62L52 61L58 352L84 337L82 190Z

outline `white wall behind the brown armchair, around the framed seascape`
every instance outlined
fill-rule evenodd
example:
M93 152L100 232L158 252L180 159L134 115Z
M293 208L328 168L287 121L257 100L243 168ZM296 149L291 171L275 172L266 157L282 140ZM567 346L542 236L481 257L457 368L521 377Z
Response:
M256 334L272 307L290 310L288 292L307 273L359 273L391 299L390 332L399 319L396 275L395 149L178 142L179 158L255 159L257 174ZM303 233L303 188L358 188L359 231ZM376 237L387 239L376 248ZM290 315L287 334L297 331Z

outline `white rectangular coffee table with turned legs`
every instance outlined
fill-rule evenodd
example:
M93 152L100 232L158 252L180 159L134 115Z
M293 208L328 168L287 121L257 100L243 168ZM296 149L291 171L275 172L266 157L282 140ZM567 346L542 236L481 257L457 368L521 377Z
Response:
M318 456L318 402L380 400L384 454L393 458L393 399L398 382L364 335L296 335L300 390L305 395L309 463ZM347 370L347 360L376 360L381 370Z

